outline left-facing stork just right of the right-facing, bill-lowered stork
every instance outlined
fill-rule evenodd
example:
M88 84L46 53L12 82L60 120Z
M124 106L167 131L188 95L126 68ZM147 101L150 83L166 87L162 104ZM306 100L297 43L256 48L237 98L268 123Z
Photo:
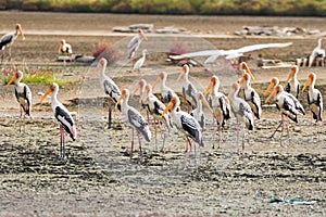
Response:
M205 93L210 93L208 97L208 101L210 106L213 110L214 118L216 118L216 123L220 131L220 143L222 142L222 129L225 125L225 120L230 118L230 105L226 102L226 95L218 91L220 88L220 79L216 75L213 75L210 79L210 84L206 87ZM214 149L214 143L213 143Z

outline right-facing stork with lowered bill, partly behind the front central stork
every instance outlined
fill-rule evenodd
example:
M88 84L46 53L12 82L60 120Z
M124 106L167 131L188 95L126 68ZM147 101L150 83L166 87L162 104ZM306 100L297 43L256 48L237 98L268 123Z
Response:
M197 94L196 94L196 104L197 104L197 107L195 107L195 110L192 110L190 112L190 115L197 119L201 129L205 130L206 129L206 117L203 112L202 105L205 105L212 114L213 114L213 111L212 111L209 102L206 101L205 97L200 91L197 92Z

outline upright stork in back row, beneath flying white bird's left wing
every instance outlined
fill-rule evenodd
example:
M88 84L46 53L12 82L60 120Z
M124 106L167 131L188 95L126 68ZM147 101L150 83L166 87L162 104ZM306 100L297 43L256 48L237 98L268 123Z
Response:
M197 107L196 95L198 93L198 90L195 87L195 85L189 80L189 66L187 64L183 66L183 71L177 80L179 80L181 77L184 77L183 95L193 110L195 107Z

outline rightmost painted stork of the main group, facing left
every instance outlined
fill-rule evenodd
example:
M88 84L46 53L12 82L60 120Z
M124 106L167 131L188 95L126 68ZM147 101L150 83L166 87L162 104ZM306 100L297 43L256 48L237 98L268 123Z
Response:
M317 76L314 73L309 74L305 80L302 91L309 86L308 90L308 104L312 112L312 119L323 122L323 95L318 89L315 88Z

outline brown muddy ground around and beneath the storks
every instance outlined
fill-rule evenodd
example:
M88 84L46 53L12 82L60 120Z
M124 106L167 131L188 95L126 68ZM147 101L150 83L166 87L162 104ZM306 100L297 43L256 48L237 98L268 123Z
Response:
M98 80L90 80L90 64L57 62L58 46L66 38L76 53L91 55L95 43L104 41L124 46L129 38L113 34L113 26L134 23L153 23L154 27L186 27L193 35L181 38L188 49L196 46L233 49L264 42L288 42L283 49L252 52L268 59L293 62L308 55L316 46L316 36L235 37L233 33L244 25L300 26L326 30L322 18L301 17L231 17L231 16L138 16L106 14L61 14L1 12L3 34L15 23L22 23L26 40L20 38L12 49L13 61L5 60L3 68L55 68L53 76L77 79L63 86L59 99L78 115L78 139L73 142L66 136L67 157L59 157L59 126L53 118L50 101L39 104L39 91L48 84L28 84L34 94L33 119L24 125L18 118L18 106L13 99L13 86L0 88L0 157L1 157L1 216L324 216L326 210L326 155L325 131L322 123L311 126L311 113L305 93L300 101L306 115L299 124L290 123L289 135L276 132L268 138L279 122L276 107L264 106L262 119L255 122L255 130L247 135L244 151L237 153L236 122L233 118L223 131L224 142L218 145L218 133L208 114L208 129L203 132L204 148L190 153L185 161L185 139L172 129L166 136L163 151L162 136L142 141L140 157L138 141L130 154L130 129L114 111L113 129L106 129L106 106ZM9 22L10 21L10 22ZM127 37L130 37L129 35ZM150 37L149 37L150 38ZM158 72L165 69L176 78L180 68L165 62L160 53L167 48L164 41L178 36L152 36L146 46L150 50L142 74L130 73L130 62L112 66L110 74L123 88L134 88L140 77L152 82ZM198 39L199 38L199 39ZM178 38L179 39L179 38ZM161 40L161 41L160 41ZM163 41L163 42L162 42ZM156 46L153 46L156 43ZM155 50L158 49L158 50ZM165 49L165 50L164 50ZM214 49L214 48L213 48ZM139 55L139 54L138 54ZM249 62L255 80L252 86L260 93L272 76L284 82L288 68L261 69L255 61ZM191 68L191 78L204 89L212 75L210 67L201 64ZM301 68L303 82L309 72L319 79L317 87L325 89L325 68ZM237 71L220 61L213 73L223 77L222 90L238 78ZM63 76L68 74L71 76ZM174 76L174 77L173 77ZM1 78L4 79L3 77ZM178 82L170 85L178 89ZM2 81L3 82L3 81ZM158 91L158 90L156 90ZM265 99L261 94L262 100ZM137 97L131 104L137 104ZM264 103L263 103L264 104ZM142 113L145 114L145 113ZM151 125L153 135L153 125ZM283 139L283 146L280 145ZM212 145L215 144L215 149ZM269 203L271 199L301 197L314 204Z

